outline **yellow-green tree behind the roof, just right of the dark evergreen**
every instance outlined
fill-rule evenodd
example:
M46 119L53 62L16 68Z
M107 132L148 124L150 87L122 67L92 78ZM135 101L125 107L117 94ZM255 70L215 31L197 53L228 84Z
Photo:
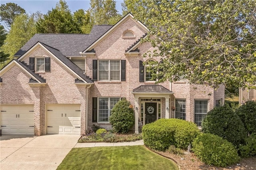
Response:
M77 24L80 33L89 34L92 30L92 21L90 17L90 12L84 12L83 9L79 9L74 12L73 15L74 22Z

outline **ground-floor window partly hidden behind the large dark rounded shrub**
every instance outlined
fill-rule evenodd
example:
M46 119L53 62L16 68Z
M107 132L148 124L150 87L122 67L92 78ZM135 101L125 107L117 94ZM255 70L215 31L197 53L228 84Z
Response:
M196 100L195 101L195 123L197 126L201 126L202 119L206 116L208 111L207 100Z

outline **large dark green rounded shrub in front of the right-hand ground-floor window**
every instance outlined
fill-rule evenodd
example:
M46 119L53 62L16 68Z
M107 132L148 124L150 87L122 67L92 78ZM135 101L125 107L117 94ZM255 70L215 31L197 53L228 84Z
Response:
M241 119L228 106L214 107L202 121L202 132L217 134L235 146L244 143L246 130Z

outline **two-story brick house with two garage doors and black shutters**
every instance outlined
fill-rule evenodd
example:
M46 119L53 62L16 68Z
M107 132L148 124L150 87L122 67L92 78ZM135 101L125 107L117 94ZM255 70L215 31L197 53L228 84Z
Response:
M112 107L125 97L134 106L135 132L161 118L201 125L207 111L224 102L217 90L186 80L155 84L142 57L148 28L127 14L114 26L90 34L36 34L0 71L3 134L85 134L111 128Z

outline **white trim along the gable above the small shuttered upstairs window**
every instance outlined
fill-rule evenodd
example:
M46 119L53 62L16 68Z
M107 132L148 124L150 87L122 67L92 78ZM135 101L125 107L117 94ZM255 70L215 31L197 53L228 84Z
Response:
M44 47L44 45L42 45L42 43L38 42L36 43L33 47L31 47L26 53L24 53L22 56L20 56L18 58L19 61L23 61L26 58L26 55L28 55L29 53L32 53L32 51L36 48L36 47L42 47L46 52L48 52L50 55L52 55L52 57L54 57L54 59L56 59L57 61L59 61L64 67L66 67L71 73L73 73L77 78L79 78L80 80L84 81L84 83L88 84L87 81L85 81L82 77L80 77L76 72L74 72L72 69L70 69L66 64L64 64L60 59L58 59L58 57L56 57L51 51L49 51L46 47Z

